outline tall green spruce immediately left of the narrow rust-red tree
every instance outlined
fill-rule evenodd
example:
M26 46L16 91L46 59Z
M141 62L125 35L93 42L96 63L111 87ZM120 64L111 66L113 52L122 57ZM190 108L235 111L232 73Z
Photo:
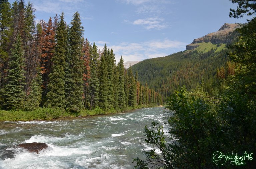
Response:
M71 91L67 98L67 108L70 111L78 112L83 108L83 62L80 59L82 57L83 27L78 12L73 15L69 34Z

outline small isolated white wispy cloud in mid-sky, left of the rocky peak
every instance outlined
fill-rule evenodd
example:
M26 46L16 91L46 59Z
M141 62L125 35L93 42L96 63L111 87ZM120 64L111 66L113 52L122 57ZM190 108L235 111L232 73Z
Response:
M142 25L146 29L164 29L168 27L166 22L163 22L164 19L158 17L145 18L145 19L137 19L133 22L124 20L126 23L130 23L133 25Z

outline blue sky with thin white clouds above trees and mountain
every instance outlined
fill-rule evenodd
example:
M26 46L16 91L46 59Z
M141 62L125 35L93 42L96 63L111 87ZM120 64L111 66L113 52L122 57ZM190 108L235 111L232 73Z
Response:
M24 0L27 4L27 0ZM14 0L9 0L13 3ZM217 31L237 4L229 0L30 0L36 20L64 12L69 24L78 11L84 37L99 49L112 48L116 62L142 61L184 51L195 38Z

